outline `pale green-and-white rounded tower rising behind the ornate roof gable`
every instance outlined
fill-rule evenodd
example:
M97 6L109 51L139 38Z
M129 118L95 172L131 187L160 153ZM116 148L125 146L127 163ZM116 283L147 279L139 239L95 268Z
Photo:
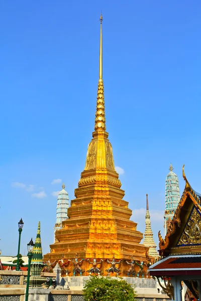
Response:
M164 228L165 235L168 231L171 220L174 216L175 210L180 200L179 180L175 173L173 173L173 166L170 164L169 174L165 182L165 215Z

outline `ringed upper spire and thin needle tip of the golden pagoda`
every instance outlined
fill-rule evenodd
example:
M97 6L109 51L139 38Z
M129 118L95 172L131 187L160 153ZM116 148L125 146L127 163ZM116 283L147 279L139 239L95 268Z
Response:
M104 82L103 82L102 21L103 21L103 17L102 15L100 15L99 79L98 79L98 86L97 86L97 102L96 102L95 126L94 126L95 131L106 130Z

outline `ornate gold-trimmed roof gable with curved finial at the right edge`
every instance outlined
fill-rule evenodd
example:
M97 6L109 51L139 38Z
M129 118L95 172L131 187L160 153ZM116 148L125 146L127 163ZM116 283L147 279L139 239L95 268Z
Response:
M201 195L187 181L184 166L183 179L185 189L165 238L162 238L160 231L158 233L161 256L201 254Z

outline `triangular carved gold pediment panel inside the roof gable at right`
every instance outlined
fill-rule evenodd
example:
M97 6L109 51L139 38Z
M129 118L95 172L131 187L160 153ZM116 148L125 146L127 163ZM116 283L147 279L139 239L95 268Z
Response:
M184 228L184 231L177 245L191 245L201 243L201 217L195 208L193 208L190 218Z

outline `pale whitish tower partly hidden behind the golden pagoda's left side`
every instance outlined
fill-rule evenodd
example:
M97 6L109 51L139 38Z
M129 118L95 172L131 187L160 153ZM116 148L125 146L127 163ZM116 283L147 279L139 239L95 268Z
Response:
M65 185L63 183L62 190L58 194L57 198L57 210L56 210L56 223L54 226L54 233L56 230L62 229L61 223L65 221L67 216L67 210L69 205L68 193L65 191Z

